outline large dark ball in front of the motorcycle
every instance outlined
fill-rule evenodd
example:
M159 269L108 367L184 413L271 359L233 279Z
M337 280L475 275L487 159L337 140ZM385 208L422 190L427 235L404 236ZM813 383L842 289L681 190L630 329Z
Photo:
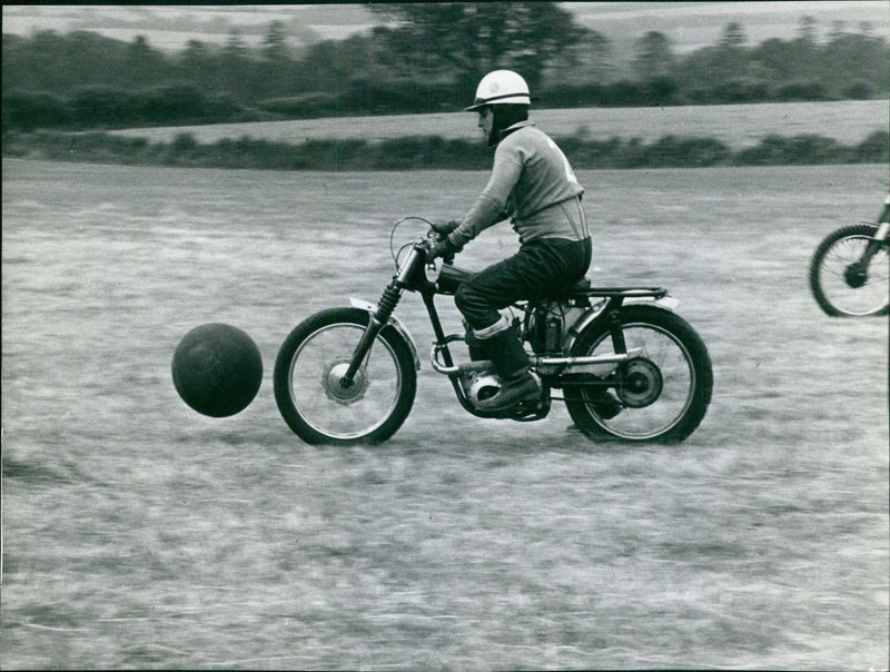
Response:
M198 413L227 417L247 408L263 382L263 358L240 329L206 324L191 329L174 353L174 385Z

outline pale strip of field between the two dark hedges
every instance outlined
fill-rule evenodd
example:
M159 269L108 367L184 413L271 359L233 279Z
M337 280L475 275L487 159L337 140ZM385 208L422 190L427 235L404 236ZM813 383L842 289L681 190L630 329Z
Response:
M869 134L887 130L887 100L716 105L660 108L534 109L532 118L555 137L584 135L595 139L640 138L652 142L662 136L706 137L733 149L756 145L768 135L815 134L844 144L862 141ZM475 115L398 115L215 123L172 128L136 128L116 134L170 142L178 134L191 134L199 142L249 136L278 142L309 139L385 140L405 136L441 136L477 139Z

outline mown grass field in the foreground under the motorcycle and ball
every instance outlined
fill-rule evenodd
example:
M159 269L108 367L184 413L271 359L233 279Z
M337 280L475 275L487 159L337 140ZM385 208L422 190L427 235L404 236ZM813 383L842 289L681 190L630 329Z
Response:
M679 446L474 418L424 360L393 439L333 449L278 415L279 345L376 300L392 223L454 217L484 172L4 159L0 666L887 669L888 322L825 317L805 278L886 175L580 171L590 277L669 287L710 348ZM396 314L425 359L419 299ZM207 322L263 353L233 418L172 386Z

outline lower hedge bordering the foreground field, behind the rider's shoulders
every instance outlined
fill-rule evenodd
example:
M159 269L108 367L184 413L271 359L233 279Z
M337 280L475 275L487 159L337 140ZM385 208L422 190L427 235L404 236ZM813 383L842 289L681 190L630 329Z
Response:
M711 138L664 136L644 144L639 139L604 141L581 137L560 139L576 169L701 168L709 166L782 166L888 162L887 131L870 135L858 145L842 145L817 135L769 136L759 145L733 151ZM172 142L149 142L107 132L65 134L36 131L3 135L3 156L50 160L182 166L195 168L251 168L273 170L487 170L491 150L481 142L411 137L367 140L309 140L288 145L243 137L201 145L190 134Z

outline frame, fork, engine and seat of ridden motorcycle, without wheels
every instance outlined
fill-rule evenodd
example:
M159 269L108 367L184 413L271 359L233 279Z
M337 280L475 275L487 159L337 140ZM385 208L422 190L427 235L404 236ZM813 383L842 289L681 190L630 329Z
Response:
M398 269L398 273L393 277L389 285L387 285L376 306L353 300L353 305L362 307L369 313L369 319L365 333L353 352L349 367L342 378L342 384L344 386L349 386L354 383L355 374L362 366L362 363L367 358L374 339L387 324L395 325L397 330L408 342L415 355L415 359L417 359L416 347L412 338L407 335L404 327L400 326L400 323L392 316L404 291L417 291L426 307L429 324L433 327L433 334L435 336L432 355L433 368L448 377L461 406L468 413L478 417L512 418L518 421L541 419L550 413L552 401L551 389L554 387L561 388L564 385L572 385L571 376L573 374L585 373L584 367L619 364L636 356L636 352L627 352L627 346L624 342L624 332L622 329L621 308L626 300L655 300L661 303L662 299L668 298L668 290L662 287L591 287L582 290L573 290L563 297L552 298L551 300L553 302L581 308L584 312L568 329L566 336L561 338L558 354L536 354L531 358L532 369L540 376L542 382L543 394L541 399L534 404L533 407L522 405L518 408L508 411L485 412L477 409L469 401L461 384L461 377L469 370L486 370L491 367L491 362L471 362L468 365L455 365L448 344L457 340L463 342L464 337L459 335L447 336L445 334L442 320L438 316L438 309L435 305L436 295L453 296L459 280L469 277L472 274L457 269L451 266L451 264L444 264L443 269L449 269L446 277L443 279L441 271L437 281L428 280L425 273L426 250L426 244L423 241L415 241L412 245L407 260L404 266ZM455 280L455 277L452 276L456 276L458 279ZM602 300L593 305L591 298L600 298ZM543 304L532 305L527 302L521 302L513 307L522 310L524 315L523 320L520 323L523 333L527 333L533 316L543 315ZM669 304L664 307L670 309L671 306ZM568 356L577 336L593 326L594 323L603 319L609 322L613 354L590 357ZM518 323L518 318L516 322ZM439 354L442 355L442 363L438 363ZM419 366L419 360L417 360L417 364Z

